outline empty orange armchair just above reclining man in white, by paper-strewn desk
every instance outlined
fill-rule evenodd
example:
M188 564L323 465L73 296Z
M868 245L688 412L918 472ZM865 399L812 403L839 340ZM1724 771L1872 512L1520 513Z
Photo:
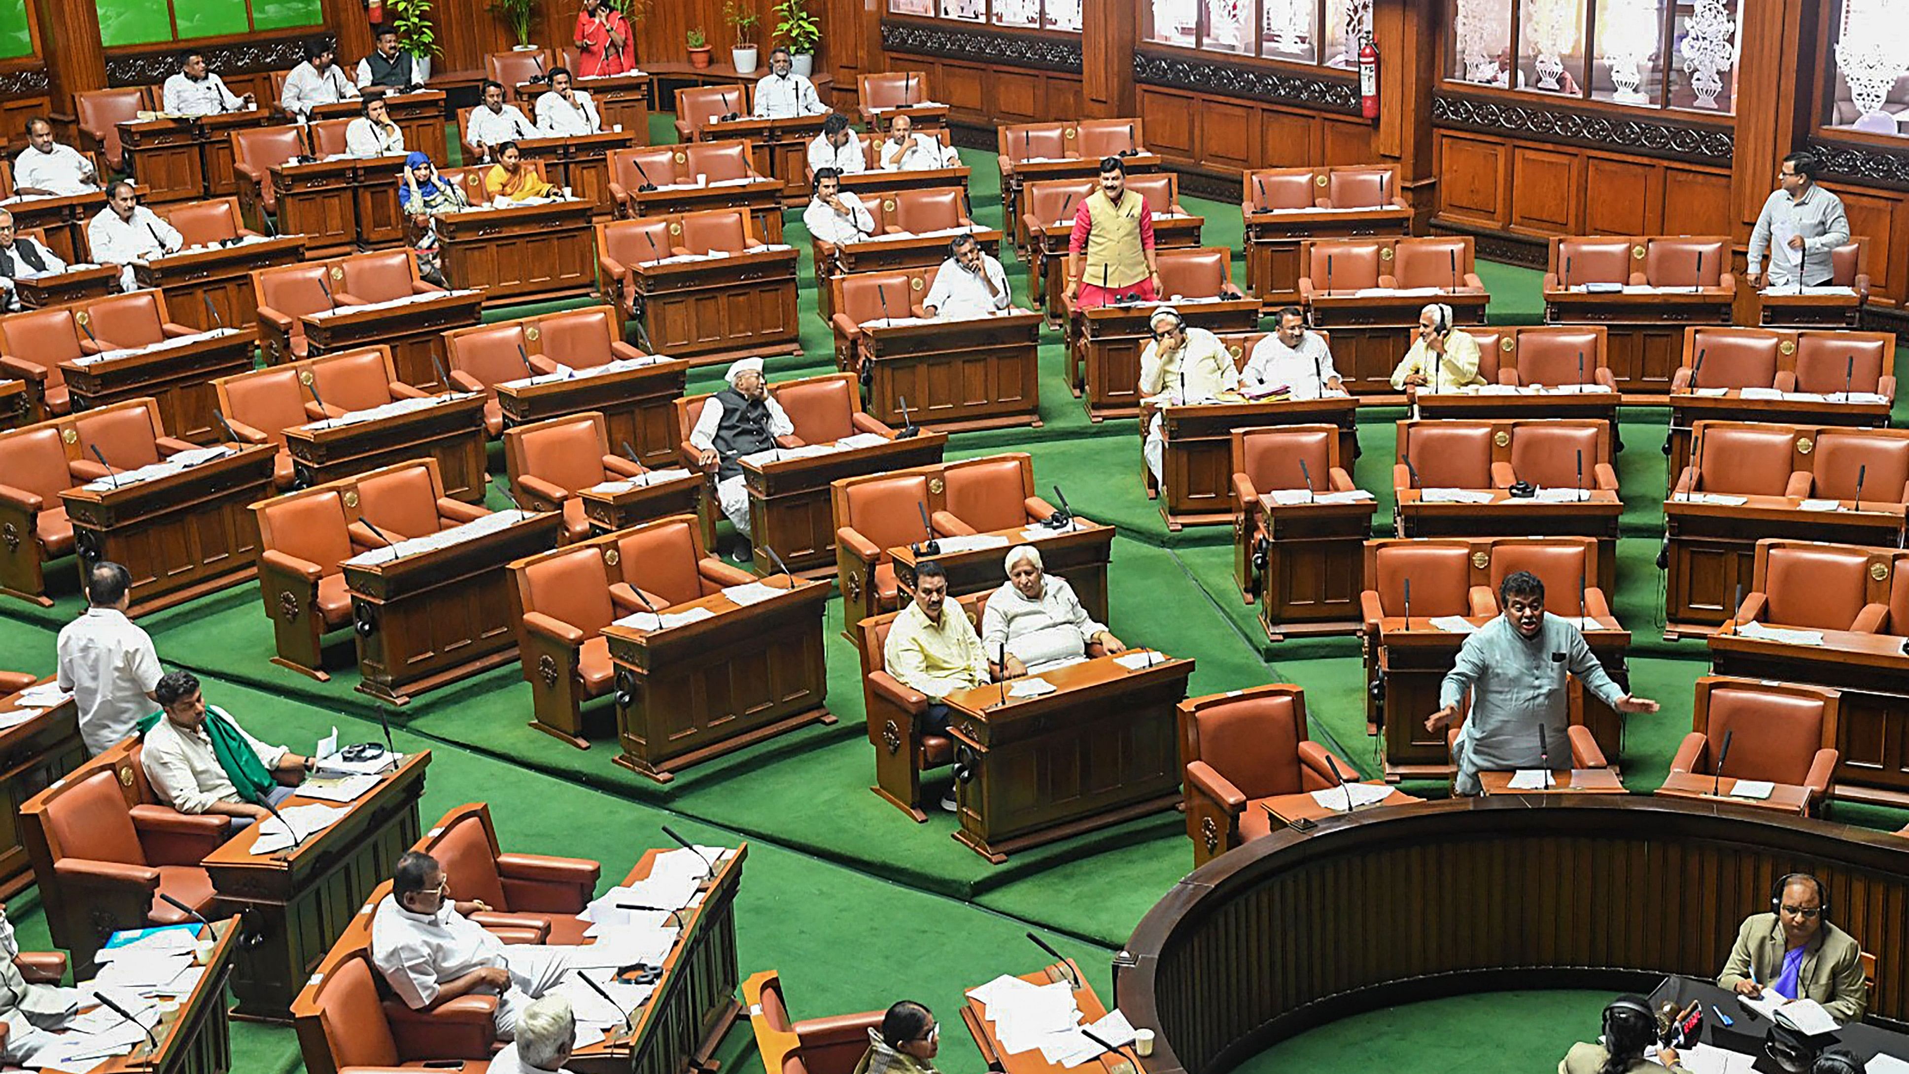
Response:
M487 929L529 929L546 944L582 944L590 921L577 914L596 897L603 864L550 855L506 855L485 803L460 805L412 847L437 858L451 898L481 900L470 916Z

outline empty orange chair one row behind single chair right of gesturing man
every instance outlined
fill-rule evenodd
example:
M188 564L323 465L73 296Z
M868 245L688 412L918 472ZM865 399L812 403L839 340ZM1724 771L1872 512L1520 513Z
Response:
M1869 603L1869 557L1848 546L1760 540L1760 586L1743 597L1733 620L1880 633L1890 607Z

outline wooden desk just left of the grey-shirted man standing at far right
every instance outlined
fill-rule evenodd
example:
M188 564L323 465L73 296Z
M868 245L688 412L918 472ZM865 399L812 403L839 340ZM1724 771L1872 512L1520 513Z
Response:
M1625 403L1663 403L1684 362L1684 328L1730 324L1724 288L1653 288L1638 294L1544 292L1546 324L1604 324L1611 376Z

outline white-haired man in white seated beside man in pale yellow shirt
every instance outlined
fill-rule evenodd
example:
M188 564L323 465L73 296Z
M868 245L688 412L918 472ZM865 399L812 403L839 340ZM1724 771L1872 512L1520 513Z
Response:
M987 597L981 612L981 649L995 677L1014 679L1088 656L1090 645L1103 652L1126 647L1094 622L1065 578L1046 574L1040 549L1019 544L1008 549L1008 580Z

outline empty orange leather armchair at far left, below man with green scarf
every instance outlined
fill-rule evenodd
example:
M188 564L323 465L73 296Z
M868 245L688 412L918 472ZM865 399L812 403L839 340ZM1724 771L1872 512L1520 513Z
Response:
M158 805L128 738L19 809L53 944L73 952L80 977L118 929L178 925L212 914L212 878L200 860L225 843L227 818Z

